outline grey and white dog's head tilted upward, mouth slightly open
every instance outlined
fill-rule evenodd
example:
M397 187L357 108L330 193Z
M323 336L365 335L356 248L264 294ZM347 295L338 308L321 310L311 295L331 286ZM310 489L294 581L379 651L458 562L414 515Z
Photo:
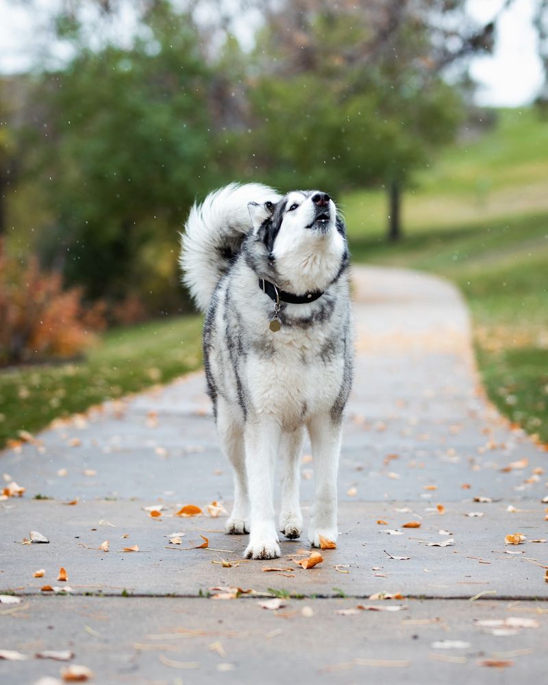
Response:
M277 202L250 202L251 252L261 278L303 295L325 290L347 260L345 224L320 190L293 190Z

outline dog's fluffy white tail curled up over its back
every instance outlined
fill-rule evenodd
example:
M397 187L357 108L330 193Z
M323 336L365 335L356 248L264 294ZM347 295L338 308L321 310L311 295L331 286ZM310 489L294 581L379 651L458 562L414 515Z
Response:
M219 279L251 231L247 205L277 199L277 192L268 186L231 183L210 192L200 205L192 206L181 236L179 264L183 282L203 312Z

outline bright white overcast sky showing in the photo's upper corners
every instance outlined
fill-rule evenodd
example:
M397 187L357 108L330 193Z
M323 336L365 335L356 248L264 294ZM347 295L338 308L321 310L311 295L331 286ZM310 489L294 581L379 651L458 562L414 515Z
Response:
M469 0L469 13L478 21L489 21L504 0ZM532 15L537 0L514 0L498 24L495 53L475 58L471 75L479 84L479 105L518 107L530 103L543 84L543 69L536 54ZM51 0L39 0L51 7ZM0 0L0 73L28 69L35 52L36 16L9 0ZM39 26L38 26L39 31ZM242 36L245 38L245 36Z

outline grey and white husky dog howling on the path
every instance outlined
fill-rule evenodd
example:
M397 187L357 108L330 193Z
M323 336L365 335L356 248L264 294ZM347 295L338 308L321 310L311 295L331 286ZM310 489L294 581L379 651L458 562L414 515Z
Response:
M308 539L335 542L336 477L353 349L345 224L319 190L281 196L231 184L190 210L184 283L206 312L203 357L223 451L234 469L226 532L248 533L247 558L279 556L279 530L301 534L299 462L308 429L315 501Z

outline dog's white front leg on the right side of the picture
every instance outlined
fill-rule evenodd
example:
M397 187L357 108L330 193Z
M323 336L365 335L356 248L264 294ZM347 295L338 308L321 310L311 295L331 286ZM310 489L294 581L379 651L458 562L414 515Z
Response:
M314 416L308 423L308 433L314 458L314 506L308 540L320 547L320 536L336 542L337 471L342 426L331 416Z

